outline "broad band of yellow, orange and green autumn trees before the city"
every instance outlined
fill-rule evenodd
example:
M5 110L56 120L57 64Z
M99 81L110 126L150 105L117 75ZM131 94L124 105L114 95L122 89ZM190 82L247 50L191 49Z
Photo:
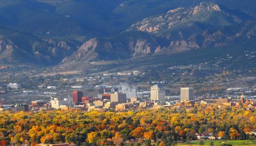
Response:
M217 107L114 112L40 111L0 113L0 141L6 144L122 144L161 140L193 140L196 134L223 139L255 139L256 112ZM247 133L247 134L246 134ZM157 142L159 143L159 142Z

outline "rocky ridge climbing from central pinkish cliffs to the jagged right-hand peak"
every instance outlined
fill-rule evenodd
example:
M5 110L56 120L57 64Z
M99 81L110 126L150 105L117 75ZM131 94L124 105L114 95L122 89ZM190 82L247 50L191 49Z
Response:
M65 58L62 65L225 46L236 39L254 36L255 21L247 17L245 19L241 15L228 13L226 8L222 10L215 3L200 3L189 9L172 9L160 16L136 22L115 37L93 38L85 42L77 52ZM222 23L212 25L211 19Z

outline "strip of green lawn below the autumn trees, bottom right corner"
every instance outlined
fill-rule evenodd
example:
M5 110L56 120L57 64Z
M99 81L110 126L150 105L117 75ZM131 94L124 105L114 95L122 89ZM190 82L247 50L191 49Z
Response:
M199 140L191 141L191 145L200 145ZM204 140L204 145L209 145L210 140ZM222 143L229 143L233 146L237 145L256 145L256 140L214 140L214 145L218 146ZM178 145L188 145L187 143L181 143Z

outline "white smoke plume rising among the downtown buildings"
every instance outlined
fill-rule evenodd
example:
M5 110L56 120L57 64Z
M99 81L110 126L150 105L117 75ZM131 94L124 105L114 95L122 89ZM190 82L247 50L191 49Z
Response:
M119 87L119 91L126 93L127 99L136 98L136 87L134 87L133 85L129 85L127 83L120 83Z

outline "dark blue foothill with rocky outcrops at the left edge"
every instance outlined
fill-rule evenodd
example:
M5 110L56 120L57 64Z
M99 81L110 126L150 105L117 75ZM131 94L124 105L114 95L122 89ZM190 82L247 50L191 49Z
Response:
M0 64L55 65L79 44L0 27Z

